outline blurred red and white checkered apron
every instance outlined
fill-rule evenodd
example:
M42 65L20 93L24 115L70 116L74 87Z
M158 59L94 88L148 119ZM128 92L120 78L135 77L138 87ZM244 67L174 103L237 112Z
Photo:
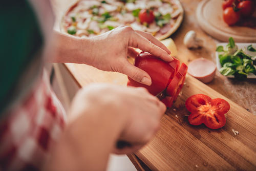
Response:
M39 170L65 126L65 110L46 71L33 90L0 121L0 171Z

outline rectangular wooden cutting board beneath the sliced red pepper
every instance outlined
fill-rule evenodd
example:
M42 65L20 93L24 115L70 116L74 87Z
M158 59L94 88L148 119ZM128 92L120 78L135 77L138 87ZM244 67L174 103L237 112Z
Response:
M79 79L76 78L78 74L73 75L81 87L91 82L126 86L127 77L123 74L73 63L66 63L66 66L71 73L85 73L80 73ZM192 126L187 122L189 113L184 103L194 94L206 94L229 102L227 123L222 129L210 130L204 125ZM235 136L232 129L239 134ZM174 107L166 111L156 137L136 155L152 170L255 170L255 131L256 116L187 75L182 94Z

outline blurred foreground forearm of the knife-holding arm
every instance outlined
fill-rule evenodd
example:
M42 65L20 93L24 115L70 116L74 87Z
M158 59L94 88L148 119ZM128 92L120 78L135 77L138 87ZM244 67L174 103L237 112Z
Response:
M105 170L126 118L97 109L87 112L67 126L46 170Z

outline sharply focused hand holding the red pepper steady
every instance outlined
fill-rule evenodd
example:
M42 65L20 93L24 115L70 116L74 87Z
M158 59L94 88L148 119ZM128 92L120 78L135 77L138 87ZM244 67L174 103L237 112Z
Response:
M135 31L131 27L117 27L109 32L91 38L93 46L86 63L103 71L123 73L135 81L148 86L151 77L145 71L133 66L127 56L136 57L133 48L150 52L165 61L172 61L170 51L150 33ZM90 58L90 59L88 59Z

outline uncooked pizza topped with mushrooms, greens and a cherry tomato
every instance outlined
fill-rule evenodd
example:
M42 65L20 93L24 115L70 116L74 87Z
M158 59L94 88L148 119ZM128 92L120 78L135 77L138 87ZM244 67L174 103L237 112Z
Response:
M178 29L183 13L178 0L80 0L62 17L61 31L93 37L126 25L161 40Z

